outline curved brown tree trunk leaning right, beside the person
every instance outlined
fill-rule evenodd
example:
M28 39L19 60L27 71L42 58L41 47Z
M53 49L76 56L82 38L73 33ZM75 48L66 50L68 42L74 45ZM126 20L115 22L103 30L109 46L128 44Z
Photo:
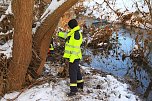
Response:
M64 4L58 7L51 15L49 15L41 26L36 31L33 39L34 53L33 59L30 63L30 70L37 72L37 76L42 73L44 63L46 61L46 55L50 43L51 36L58 24L60 17L70 9L78 0L67 0ZM34 68L35 67L35 68ZM33 73L33 72L32 72ZM36 76L36 75L35 75Z

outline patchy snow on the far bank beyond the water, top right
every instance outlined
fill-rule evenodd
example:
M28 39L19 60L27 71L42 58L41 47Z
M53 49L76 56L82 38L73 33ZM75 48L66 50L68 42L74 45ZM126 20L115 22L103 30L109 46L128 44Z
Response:
M106 3L103 2L104 0L84 1L83 5L87 8L86 13L84 15L89 17L93 16L95 18L100 18L100 19L107 19L110 22L120 23L121 20L118 19L118 16L107 6ZM116 0L116 1L109 0L109 2L110 2L109 5L113 10L124 13L123 15L135 12L138 10L138 8L140 9L140 11L146 13L149 12L148 6L144 3L144 0ZM136 7L136 3L138 5L138 8ZM137 17L137 15L135 17ZM141 17L141 15L138 15L138 17ZM127 21L127 25L131 25L131 21ZM135 23L133 25L144 29L152 28L151 24L146 24L146 26L144 26L143 24Z

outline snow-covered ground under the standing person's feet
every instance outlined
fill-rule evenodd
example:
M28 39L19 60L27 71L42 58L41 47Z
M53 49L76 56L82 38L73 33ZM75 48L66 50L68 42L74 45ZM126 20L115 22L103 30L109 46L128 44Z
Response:
M129 85L118 81L111 75L92 73L90 67L81 66L84 70L84 92L74 97L67 97L69 79L56 76L57 67L45 64L47 71L54 76L42 85L24 90L22 93L5 94L1 101L8 101L20 94L15 101L140 101L139 97L129 90ZM42 78L41 78L42 79Z

